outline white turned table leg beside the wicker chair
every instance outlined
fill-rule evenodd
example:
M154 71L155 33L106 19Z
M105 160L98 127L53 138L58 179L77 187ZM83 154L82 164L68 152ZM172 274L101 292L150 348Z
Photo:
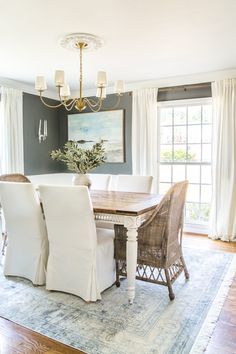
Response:
M137 229L139 227L139 219L126 217L124 226L127 228L126 243L126 265L127 265L127 281L128 281L128 301L133 303L135 297L135 276L137 267Z

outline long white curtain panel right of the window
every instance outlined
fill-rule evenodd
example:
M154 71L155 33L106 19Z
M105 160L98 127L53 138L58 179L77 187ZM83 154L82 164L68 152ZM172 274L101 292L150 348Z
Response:
M213 200L210 237L236 241L236 79L212 83Z

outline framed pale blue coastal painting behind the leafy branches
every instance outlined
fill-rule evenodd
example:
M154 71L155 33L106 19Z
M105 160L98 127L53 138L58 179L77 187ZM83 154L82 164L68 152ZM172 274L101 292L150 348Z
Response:
M124 162L124 111L69 114L68 140L85 148L103 140L106 162Z

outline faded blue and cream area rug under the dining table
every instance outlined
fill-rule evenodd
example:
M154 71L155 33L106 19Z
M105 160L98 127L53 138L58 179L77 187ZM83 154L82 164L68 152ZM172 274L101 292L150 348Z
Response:
M103 293L102 301L48 292L0 270L0 316L88 354L203 353L235 273L232 254L185 248L189 281L167 288L136 282L128 305L126 280Z

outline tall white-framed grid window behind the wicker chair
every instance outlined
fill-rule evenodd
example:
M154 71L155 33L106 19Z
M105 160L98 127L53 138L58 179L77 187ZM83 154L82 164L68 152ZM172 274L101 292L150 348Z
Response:
M211 203L212 105L210 99L159 105L160 184L165 193L187 179L186 229L207 231Z

